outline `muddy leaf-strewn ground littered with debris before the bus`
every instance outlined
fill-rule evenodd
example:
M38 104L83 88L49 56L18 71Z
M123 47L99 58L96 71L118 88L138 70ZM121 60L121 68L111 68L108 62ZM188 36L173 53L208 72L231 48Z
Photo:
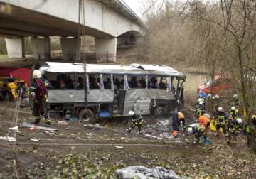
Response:
M14 104L0 102L0 136L14 136L8 129L13 126L12 108ZM61 124L66 121L53 119L52 127L58 131L31 131L20 125L33 122L30 109L21 111L15 148L14 141L0 139L0 178L117 178L117 168L133 165L163 166L181 178L256 176L256 158L242 134L237 146L229 147L224 136L216 138L213 134L209 134L213 145L196 145L193 136L186 133L174 139L167 137L170 131L152 129L158 119L151 116L144 116L145 134L162 139L137 131L127 134L129 122L124 119L102 121L99 126L84 126L78 121ZM185 111L188 122L193 123L192 112Z

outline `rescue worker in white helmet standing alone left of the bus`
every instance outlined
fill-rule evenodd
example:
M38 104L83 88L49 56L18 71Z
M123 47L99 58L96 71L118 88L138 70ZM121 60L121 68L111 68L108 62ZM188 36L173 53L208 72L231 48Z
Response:
M30 87L30 96L33 99L33 115L35 116L35 124L40 124L41 114L44 114L46 126L50 125L50 116L46 107L47 90L43 80L41 79L41 72L39 70L33 71L33 81Z

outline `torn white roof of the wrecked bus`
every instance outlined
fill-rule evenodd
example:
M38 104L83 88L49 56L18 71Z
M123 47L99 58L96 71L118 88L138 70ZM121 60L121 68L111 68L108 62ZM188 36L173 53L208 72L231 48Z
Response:
M67 73L67 72L85 72L85 65L82 63L56 63L47 62L46 67L41 67L44 72ZM134 74L134 75L165 75L165 76L185 76L174 68L164 65L144 65L133 63L131 65L102 65L86 64L87 73L103 74Z

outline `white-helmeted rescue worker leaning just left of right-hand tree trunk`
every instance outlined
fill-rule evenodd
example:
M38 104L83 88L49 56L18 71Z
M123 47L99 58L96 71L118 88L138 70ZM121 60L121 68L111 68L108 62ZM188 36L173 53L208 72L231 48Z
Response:
M232 141L236 143L236 137L238 133L242 130L242 119L238 118L231 122L230 128L228 129L228 140L227 143L230 144Z

